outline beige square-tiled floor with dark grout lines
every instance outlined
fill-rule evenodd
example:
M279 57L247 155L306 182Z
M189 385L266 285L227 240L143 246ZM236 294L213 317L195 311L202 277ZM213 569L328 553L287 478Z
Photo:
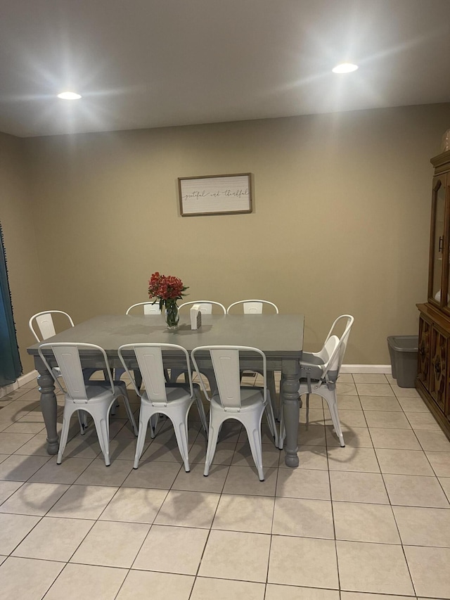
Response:
M122 407L110 467L75 420L57 466L35 385L2 398L2 600L450 599L450 442L390 377L342 375L338 392L346 447L311 397L299 468L264 433L264 483L231 422L203 477L195 409L191 472L164 421L134 471Z

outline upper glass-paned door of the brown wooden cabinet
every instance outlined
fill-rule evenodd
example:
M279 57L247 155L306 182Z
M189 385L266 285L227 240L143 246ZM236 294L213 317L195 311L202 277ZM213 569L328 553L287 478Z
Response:
M430 280L428 282L428 300L439 307L449 304L447 293L449 281L448 251L448 207L446 207L446 175L433 179L431 241L430 241ZM444 252L444 246L447 247ZM443 284L445 293L442 293Z

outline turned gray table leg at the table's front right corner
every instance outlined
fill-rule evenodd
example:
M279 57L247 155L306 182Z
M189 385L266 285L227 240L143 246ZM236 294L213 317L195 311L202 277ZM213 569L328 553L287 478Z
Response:
M283 361L281 377L280 404L283 406L283 421L285 426L285 464L298 466L297 436L300 420L300 399L298 382L300 372L298 361Z

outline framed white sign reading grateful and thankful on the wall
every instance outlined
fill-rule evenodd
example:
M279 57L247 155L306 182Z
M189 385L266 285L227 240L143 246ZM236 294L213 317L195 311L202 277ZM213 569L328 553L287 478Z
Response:
M251 174L179 177L181 217L252 212Z

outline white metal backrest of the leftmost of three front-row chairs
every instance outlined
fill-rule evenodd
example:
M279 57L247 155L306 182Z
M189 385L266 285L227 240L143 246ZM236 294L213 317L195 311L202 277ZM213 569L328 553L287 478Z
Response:
M51 350L51 352L53 352L53 356L56 359L56 363L58 364L60 373L63 376L67 390L64 390L63 386L60 384L59 378L54 374L53 369L49 364L49 359L44 356L45 350ZM100 362L102 364L101 366L98 366L98 369L103 370L105 375L107 374L109 376L111 391L114 391L114 383L111 376L108 357L106 356L105 350L103 350L101 346L84 343L49 342L40 344L38 348L39 356L44 362L46 368L49 370L55 382L58 384L60 390L62 390L64 393L67 393L72 400L86 400L86 385L89 385L89 383L84 381L85 378L81 359L79 357L79 350L89 350L89 352L95 352L96 355L99 355Z

